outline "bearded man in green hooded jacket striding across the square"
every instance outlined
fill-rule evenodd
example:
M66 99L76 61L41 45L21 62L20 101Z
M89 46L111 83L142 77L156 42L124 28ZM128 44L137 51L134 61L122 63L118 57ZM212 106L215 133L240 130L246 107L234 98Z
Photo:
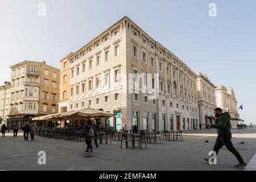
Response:
M218 151L225 146L228 148L234 156L236 156L239 164L237 164L236 168L245 168L246 163L243 161L242 156L239 154L239 152L236 150L236 148L233 146L233 143L231 141L232 134L231 134L231 123L230 123L230 115L228 112L222 113L221 108L217 107L214 109L214 115L215 115L215 125L211 125L214 129L217 129L218 137L216 139L216 142L213 147L213 151L216 152L216 155L218 155ZM208 158L204 158L207 162L209 162Z

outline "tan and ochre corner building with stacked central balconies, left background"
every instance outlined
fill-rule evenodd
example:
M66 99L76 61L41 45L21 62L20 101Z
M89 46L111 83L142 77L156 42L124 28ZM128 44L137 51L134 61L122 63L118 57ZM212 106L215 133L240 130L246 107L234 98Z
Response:
M59 111L60 70L45 61L22 61L11 68L8 125L31 122L33 117Z

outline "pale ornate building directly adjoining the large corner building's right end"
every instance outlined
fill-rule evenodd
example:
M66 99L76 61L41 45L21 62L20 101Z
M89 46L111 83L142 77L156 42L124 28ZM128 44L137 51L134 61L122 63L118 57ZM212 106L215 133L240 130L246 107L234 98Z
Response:
M216 86L210 82L207 75L197 73L196 79L199 118L200 123L214 123L214 108L216 108L215 88Z

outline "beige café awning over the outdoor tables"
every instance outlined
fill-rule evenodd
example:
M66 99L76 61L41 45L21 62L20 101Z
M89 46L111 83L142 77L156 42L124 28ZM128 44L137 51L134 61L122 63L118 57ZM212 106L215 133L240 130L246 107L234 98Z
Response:
M110 114L105 111L96 110L96 109L82 109L77 111L68 111L65 113L57 113L44 115L41 117L33 118L32 121L60 121L60 120L79 120L85 119L85 117L93 117L93 118L109 118L113 117L114 114ZM86 119L87 119L86 118Z

